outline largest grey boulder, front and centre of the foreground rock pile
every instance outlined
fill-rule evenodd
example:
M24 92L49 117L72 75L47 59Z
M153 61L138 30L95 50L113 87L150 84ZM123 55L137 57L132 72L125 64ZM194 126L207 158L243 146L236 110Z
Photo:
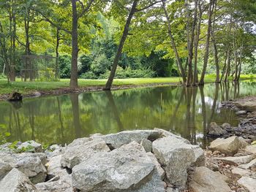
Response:
M146 151L137 142L112 150L97 153L72 169L72 183L80 191L164 191L164 185ZM156 173L156 172L155 172ZM155 178L155 177L158 177ZM154 188L154 186L156 186ZM147 187L148 188L148 187Z

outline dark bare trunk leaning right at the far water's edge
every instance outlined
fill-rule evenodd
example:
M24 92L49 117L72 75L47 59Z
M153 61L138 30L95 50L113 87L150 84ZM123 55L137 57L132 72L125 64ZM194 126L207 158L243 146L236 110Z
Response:
M108 77L108 82L106 83L104 90L110 90L110 88L112 86L113 79L114 79L115 74L116 74L116 68L118 66L118 61L121 57L121 52L122 52L123 47L124 47L124 42L127 39L127 35L128 35L128 32L129 32L129 24L131 23L132 17L136 12L136 7L137 7L137 4L138 4L138 1L139 0L134 0L133 1L132 8L131 8L131 10L129 12L129 15L128 15L128 18L127 18L127 23L125 23L125 26L124 26L123 35L122 35L121 40L120 40L119 45L118 45L118 50L117 50L117 53L116 53L116 57L113 61L113 66L112 66L112 69L111 69L111 72L110 72L110 76Z

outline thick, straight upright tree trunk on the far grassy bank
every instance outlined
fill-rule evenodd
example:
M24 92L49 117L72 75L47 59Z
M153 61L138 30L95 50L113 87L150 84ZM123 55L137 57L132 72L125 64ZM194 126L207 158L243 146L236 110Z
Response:
M78 9L76 0L72 0L72 58L69 87L78 88Z

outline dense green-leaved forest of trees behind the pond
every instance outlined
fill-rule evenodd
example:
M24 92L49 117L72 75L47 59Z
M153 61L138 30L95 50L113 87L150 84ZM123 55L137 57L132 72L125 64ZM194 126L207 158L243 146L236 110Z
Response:
M181 77L187 86L255 74L253 0L1 0L1 78ZM37 61L36 61L37 60ZM37 73L37 74L36 74ZM39 80L44 81L44 77ZM49 79L48 79L49 80Z

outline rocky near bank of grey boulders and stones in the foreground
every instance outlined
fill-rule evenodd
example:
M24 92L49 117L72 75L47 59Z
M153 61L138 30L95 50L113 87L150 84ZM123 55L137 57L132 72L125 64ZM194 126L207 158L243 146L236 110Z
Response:
M7 143L0 160L4 191L252 192L256 184L256 145L235 136L202 150L159 128L94 134L47 149Z

